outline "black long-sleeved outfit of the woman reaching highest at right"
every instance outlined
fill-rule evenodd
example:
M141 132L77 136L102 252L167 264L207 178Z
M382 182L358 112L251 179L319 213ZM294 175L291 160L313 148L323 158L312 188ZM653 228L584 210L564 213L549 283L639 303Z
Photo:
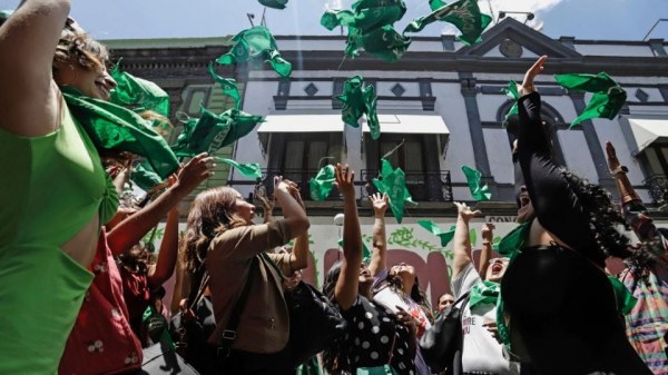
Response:
M511 263L501 282L511 336L539 374L650 375L619 319L589 214L552 160L538 92L520 98L519 116L518 157L536 217L572 249L523 248Z

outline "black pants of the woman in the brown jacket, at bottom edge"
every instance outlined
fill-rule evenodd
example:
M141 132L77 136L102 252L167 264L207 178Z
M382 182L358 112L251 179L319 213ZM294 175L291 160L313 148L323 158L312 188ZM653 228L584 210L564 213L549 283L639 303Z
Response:
M285 365L287 358L286 351L258 354L233 349L229 356L225 353L217 355L207 375L294 375L294 367Z

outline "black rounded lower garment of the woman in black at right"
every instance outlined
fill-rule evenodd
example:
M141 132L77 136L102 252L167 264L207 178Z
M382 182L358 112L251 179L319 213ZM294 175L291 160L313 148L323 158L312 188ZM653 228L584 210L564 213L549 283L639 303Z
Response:
M511 336L539 374L651 375L629 344L606 274L582 255L558 246L523 249L501 295Z

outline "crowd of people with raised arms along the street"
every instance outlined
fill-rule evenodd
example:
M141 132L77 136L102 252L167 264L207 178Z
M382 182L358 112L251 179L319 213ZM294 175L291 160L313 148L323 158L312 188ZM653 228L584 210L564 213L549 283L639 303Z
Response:
M355 172L335 166L343 257L322 293L345 333L296 368L288 343L301 322L291 322L284 292L310 256L298 187L274 178L282 218L263 200L263 224L235 189L206 189L179 238L179 201L215 167L202 154L147 204L119 205L135 156L94 142L63 99L73 89L109 100L109 56L68 13L67 0L24 0L0 27L0 374L141 374L147 347L178 341L167 317L180 312L205 333L197 357L184 354L202 374L668 375L668 236L611 144L621 210L603 188L557 165L533 85L547 57L519 85L518 227L494 257L485 224L477 266L469 223L482 213L455 203L452 294L433 308L412 265L387 264L386 195L370 197L373 249L363 259ZM156 258L143 238L165 216ZM625 259L618 277L607 273L608 257ZM175 273L168 308L163 285ZM206 322L193 302L208 308ZM452 308L462 312L461 356L430 367L420 339Z

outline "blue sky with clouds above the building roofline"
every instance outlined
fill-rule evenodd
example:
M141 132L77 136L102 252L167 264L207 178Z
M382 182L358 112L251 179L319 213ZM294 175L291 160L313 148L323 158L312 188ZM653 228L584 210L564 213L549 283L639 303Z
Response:
M235 34L258 24L264 7L257 0L71 0L71 16L96 39L197 38ZM337 34L320 24L325 9L350 9L353 0L289 0L284 10L266 9L267 27L278 34ZM404 0L407 11L395 28L430 12L428 0ZM452 2L452 1L448 1ZM14 9L19 0L0 0L0 9ZM551 38L588 40L668 40L668 0L479 0L484 13L533 12L527 24ZM490 11L491 9L491 11ZM514 16L524 22L524 14ZM458 33L436 22L420 36Z

